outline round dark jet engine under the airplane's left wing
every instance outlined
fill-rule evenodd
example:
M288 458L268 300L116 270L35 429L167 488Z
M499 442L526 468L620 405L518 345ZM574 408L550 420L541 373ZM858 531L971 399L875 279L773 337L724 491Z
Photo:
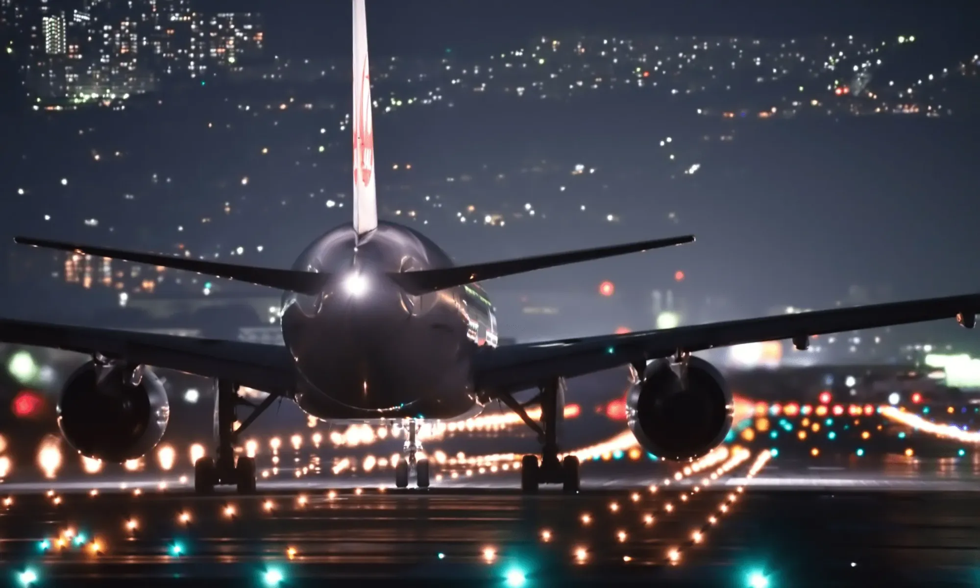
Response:
M88 362L58 402L58 427L87 458L122 464L150 452L167 430L167 391L150 368Z

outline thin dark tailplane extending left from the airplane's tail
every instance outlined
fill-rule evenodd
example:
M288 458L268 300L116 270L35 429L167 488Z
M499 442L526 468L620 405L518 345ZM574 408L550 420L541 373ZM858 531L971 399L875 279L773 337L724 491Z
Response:
M328 274L314 271L273 270L270 268L254 268L235 264L220 264L218 262L179 258L172 255L139 253L136 251L125 251L123 249L92 247L89 245L33 239L30 237L14 237L14 242L33 247L71 251L81 255L107 257L127 262L136 262L138 264L149 264L151 266L163 266L164 268L172 268L173 270L196 271L197 273L206 273L225 279L250 282L260 286L269 286L270 288L300 292L302 294L318 294L322 290L324 283L329 279Z

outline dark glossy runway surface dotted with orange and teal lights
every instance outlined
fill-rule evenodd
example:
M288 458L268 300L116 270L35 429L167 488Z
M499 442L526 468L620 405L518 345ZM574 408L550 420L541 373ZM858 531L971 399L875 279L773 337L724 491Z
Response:
M179 474L9 482L0 568L38 586L976 585L972 463L767 457L586 463L573 496L522 496L513 471L429 490L282 476L251 497L196 497Z

